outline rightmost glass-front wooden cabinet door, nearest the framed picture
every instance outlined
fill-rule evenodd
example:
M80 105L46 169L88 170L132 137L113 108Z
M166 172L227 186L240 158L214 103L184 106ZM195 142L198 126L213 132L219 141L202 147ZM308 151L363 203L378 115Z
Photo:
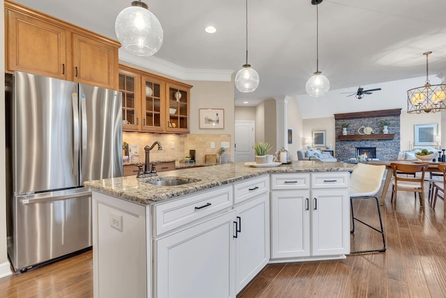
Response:
M171 133L188 133L190 110L190 86L181 84L166 84L167 94L167 127Z

